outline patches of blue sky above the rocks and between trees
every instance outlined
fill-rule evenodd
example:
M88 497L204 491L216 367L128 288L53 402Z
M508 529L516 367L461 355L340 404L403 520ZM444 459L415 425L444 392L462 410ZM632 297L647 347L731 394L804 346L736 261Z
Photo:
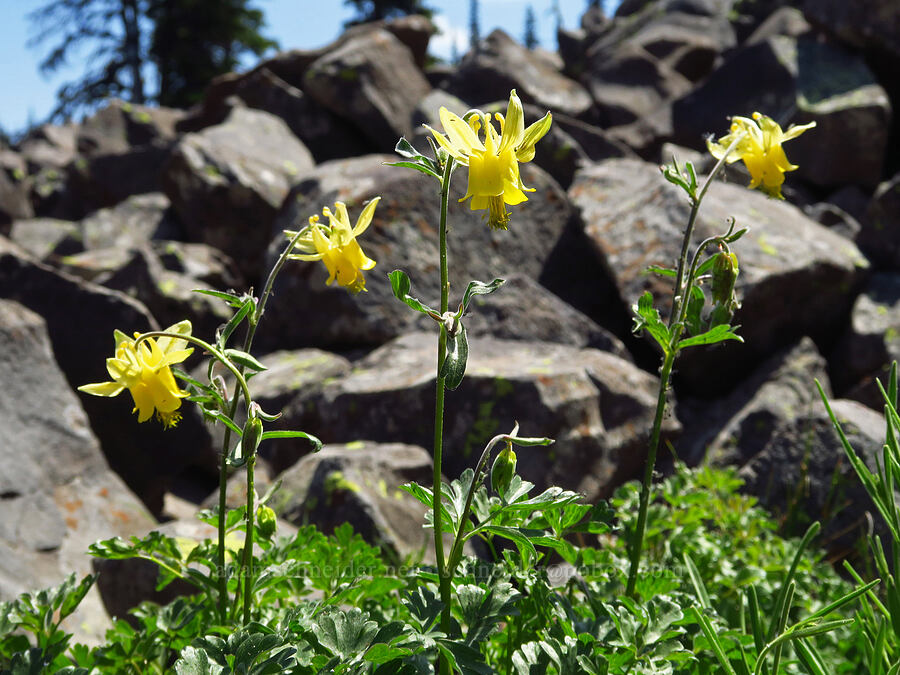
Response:
M48 0L0 0L0 128L8 133L24 129L30 120L40 120L53 107L61 84L78 77L84 63L73 59L68 70L47 79L38 72L38 63L49 46L29 48L32 35L27 14ZM266 16L265 34L276 39L282 49L314 48L327 44L341 31L343 22L353 15L343 0L256 0L254 6ZM461 51L468 43L469 0L427 0L437 11L435 18L442 35L432 38L431 51L448 58L453 40ZM500 27L518 40L522 39L525 10L534 9L538 22L538 38L544 47L556 48L553 0L479 0L481 32ZM563 25L578 26L586 0L558 0ZM616 3L617 4L617 3ZM85 50L85 54L89 52ZM84 55L82 55L84 58ZM248 65L253 65L252 63Z

